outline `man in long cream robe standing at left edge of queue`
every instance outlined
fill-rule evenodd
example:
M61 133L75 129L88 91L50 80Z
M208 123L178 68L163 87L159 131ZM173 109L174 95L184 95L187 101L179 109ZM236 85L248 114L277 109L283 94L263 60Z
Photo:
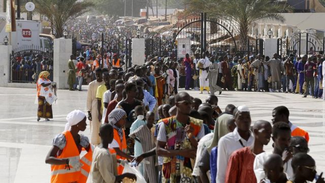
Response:
M92 81L88 85L87 93L87 111L88 119L90 123L90 132L91 132L91 144L98 145L101 143L99 136L101 122L98 120L98 100L96 99L97 88L104 84L102 69L98 68L95 71L96 80Z

